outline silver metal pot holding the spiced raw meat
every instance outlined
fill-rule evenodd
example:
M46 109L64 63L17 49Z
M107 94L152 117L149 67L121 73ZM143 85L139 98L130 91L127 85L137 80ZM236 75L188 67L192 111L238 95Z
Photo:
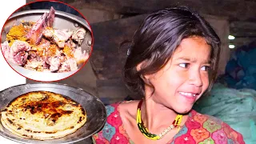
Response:
M22 12L15 13L10 16L7 20L6 24L3 27L1 34L1 42L6 41L6 34L10 31L10 28L14 25L20 24L22 21L30 21L37 22L38 19L45 12L49 12L50 10L26 10ZM87 50L91 53L91 46L89 43L92 43L92 34L90 30L89 24L85 19L79 18L76 15L68 14L66 12L55 10L55 18L54 18L54 28L56 29L70 29L77 30L78 27L83 27L86 30L86 38L82 42L82 50ZM88 61L87 61L88 62ZM23 68L22 66L15 65L12 62L8 62L10 66L13 67L19 74L22 74L26 78L30 78L36 81L42 82L50 82L50 81L58 81L63 78L67 78L70 75L74 74L76 71L63 72L63 73L46 73L46 72L38 72L34 70L28 70ZM79 65L78 68L82 68L82 65Z

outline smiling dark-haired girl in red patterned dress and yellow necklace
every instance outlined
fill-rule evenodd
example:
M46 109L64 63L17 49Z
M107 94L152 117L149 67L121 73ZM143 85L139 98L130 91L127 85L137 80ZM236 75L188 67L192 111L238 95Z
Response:
M95 143L244 143L218 118L191 110L214 83L220 39L187 8L150 14L134 34L124 80L141 101L106 106Z

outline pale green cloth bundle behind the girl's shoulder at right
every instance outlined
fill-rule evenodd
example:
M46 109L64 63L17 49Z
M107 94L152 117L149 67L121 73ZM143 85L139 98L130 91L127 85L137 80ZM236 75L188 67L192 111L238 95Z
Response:
M202 96L193 110L221 119L242 134L246 144L256 144L255 107L256 90L236 90L215 83L210 95Z

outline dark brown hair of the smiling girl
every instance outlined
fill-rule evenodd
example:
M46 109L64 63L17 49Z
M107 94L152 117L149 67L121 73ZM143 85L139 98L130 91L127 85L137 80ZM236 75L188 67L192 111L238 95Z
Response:
M166 8L148 15L134 33L130 54L126 59L123 78L130 90L144 96L142 76L154 74L166 65L182 39L198 36L211 46L210 86L218 70L220 39L213 28L199 14L186 7ZM139 63L145 62L140 70Z

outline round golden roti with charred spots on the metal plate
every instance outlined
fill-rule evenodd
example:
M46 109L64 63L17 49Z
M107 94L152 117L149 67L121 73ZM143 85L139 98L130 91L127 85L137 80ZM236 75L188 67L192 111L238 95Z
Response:
M86 123L86 111L78 102L47 91L15 98L2 111L2 125L13 134L39 140L61 138Z

